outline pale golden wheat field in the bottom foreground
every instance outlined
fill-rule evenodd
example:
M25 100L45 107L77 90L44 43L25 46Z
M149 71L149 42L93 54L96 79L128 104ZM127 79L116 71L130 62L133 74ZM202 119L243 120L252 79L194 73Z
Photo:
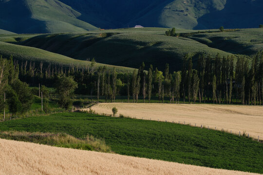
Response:
M256 175L0 139L0 175Z

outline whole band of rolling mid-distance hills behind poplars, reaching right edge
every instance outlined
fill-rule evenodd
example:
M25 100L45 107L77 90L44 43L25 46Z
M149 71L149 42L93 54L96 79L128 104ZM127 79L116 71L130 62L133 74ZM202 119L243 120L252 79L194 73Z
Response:
M127 28L90 33L50 34L32 37L20 44L37 47L75 59L95 58L97 62L138 68L142 61L161 70L169 63L180 70L182 58L189 53L194 63L200 53L214 56L243 54L253 56L263 50L262 29L236 32L218 30L176 30L186 37L165 36L166 28ZM206 32L203 33L202 32ZM195 64L196 65L196 64Z

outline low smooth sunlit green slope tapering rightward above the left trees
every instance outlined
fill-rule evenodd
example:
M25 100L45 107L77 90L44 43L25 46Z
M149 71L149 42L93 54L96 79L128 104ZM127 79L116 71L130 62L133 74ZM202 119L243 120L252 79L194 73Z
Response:
M10 39L10 38L9 38ZM27 47L27 46L19 46L15 44L5 43L0 41L0 55L3 57L13 56L14 59L18 59L19 61L35 61L35 62L44 62L44 63L51 63L57 65L64 65L64 66L75 66L75 67L89 67L91 65L90 61L82 61L82 60L75 60L73 58L60 55L57 53L51 53L48 51L44 51L37 48ZM98 66L107 66L109 69L113 69L116 67L117 71L133 71L131 68L125 67L118 67L118 66L111 66L105 65L100 63L95 63L95 67Z

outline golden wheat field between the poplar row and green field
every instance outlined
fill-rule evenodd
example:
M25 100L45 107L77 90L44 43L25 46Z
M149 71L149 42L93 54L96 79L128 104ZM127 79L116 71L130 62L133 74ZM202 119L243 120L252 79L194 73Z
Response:
M260 136L263 140L263 106L101 103L91 108L99 114L112 114L113 107L118 109L118 114L136 119L180 121L193 126L196 123L235 134L245 131L250 137Z

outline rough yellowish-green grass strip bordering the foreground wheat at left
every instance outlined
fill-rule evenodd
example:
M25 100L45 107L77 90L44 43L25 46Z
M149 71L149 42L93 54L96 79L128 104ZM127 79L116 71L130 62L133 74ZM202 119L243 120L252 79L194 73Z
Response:
M0 139L25 141L56 147L99 151L105 153L111 152L111 148L105 144L104 140L96 139L93 136L87 136L85 139L81 140L63 133L55 134L3 131L0 132Z

